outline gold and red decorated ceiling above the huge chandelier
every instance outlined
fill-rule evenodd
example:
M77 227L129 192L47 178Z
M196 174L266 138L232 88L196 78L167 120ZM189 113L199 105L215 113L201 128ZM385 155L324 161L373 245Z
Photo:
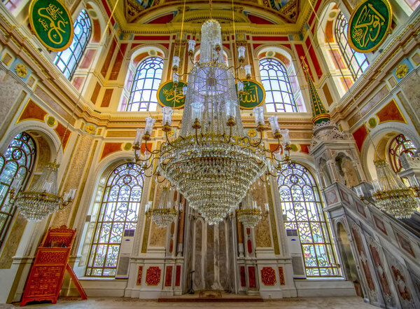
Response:
M113 8L117 0L104 1ZM209 0L124 0L118 1L115 16L123 32L147 32L152 27L160 32L182 22L198 28L212 17L227 26L235 20L237 29L255 25L276 33L296 33L303 29L309 13L308 1L301 0L214 0L211 13Z

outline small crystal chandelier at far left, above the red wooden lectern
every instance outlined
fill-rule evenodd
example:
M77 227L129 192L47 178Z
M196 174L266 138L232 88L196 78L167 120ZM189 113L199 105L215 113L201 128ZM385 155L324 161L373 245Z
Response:
M48 163L34 187L28 191L19 191L23 179L18 175L13 179L10 188L10 203L19 207L20 213L28 221L41 221L73 201L76 193L74 188L64 193L63 197L57 194L58 167L57 163Z

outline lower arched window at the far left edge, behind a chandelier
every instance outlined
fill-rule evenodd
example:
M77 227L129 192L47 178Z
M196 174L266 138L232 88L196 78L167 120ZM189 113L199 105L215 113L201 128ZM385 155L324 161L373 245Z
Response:
M34 168L35 154L34 139L22 132L10 142L4 156L0 156L0 247L16 212L16 207L9 203L10 185L18 175L25 188Z

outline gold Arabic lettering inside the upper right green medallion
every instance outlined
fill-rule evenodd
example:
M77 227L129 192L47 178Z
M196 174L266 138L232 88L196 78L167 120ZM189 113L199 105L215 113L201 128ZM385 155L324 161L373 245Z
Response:
M358 15L351 36L360 47L366 47L370 41L376 41L385 22L384 16L372 4L366 4Z

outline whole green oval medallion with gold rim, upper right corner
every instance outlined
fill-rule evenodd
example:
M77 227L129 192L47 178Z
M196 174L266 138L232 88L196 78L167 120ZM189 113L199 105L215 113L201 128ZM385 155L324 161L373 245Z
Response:
M392 23L388 0L362 0L349 20L347 37L351 48L360 53L377 49L386 39Z

